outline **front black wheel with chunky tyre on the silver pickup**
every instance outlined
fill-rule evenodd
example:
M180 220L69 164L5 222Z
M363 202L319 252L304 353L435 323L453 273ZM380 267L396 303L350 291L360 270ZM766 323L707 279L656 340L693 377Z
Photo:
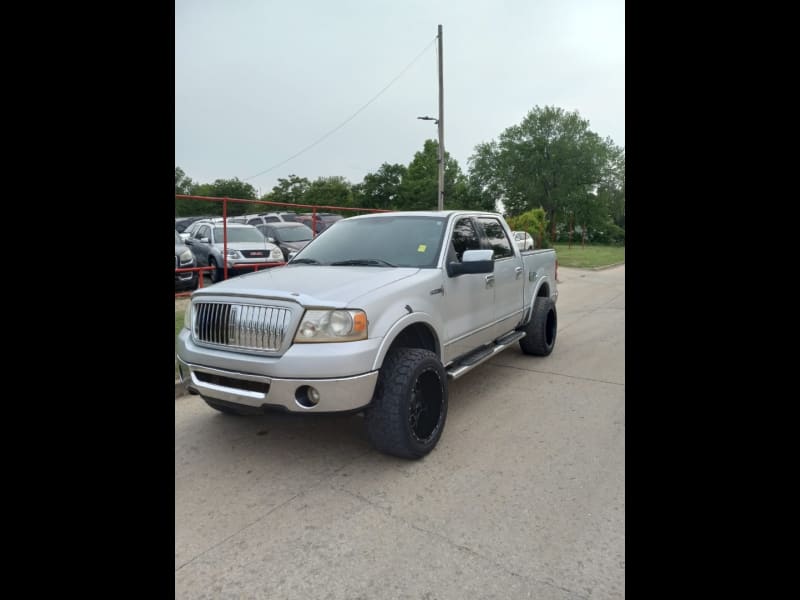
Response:
M383 361L367 435L381 452L422 458L439 441L447 419L447 374L429 350L395 348Z

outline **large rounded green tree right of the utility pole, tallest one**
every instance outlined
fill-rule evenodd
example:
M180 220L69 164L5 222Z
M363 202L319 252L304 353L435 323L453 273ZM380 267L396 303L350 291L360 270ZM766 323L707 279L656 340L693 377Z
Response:
M470 180L482 194L501 200L512 216L543 207L554 228L564 208L588 214L587 193L602 181L609 142L577 111L537 106L498 141L475 147Z

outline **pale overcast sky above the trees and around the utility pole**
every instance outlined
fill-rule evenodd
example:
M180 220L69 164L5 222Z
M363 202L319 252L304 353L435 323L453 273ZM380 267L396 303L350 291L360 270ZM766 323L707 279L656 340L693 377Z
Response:
M176 0L175 165L260 194L407 165L438 139L417 116L438 117L439 24L444 145L465 173L537 105L625 146L624 0Z

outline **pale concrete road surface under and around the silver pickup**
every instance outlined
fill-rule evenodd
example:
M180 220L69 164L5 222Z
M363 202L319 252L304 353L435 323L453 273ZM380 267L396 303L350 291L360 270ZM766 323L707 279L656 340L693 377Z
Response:
M559 277L553 354L451 382L420 461L175 400L176 598L624 598L625 267Z

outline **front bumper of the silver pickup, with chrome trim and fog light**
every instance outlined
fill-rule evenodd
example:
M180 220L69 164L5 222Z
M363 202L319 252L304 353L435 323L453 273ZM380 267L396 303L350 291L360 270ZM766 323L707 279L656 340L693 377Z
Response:
M378 380L378 371L339 379L279 379L189 364L180 357L178 374L190 391L202 396L255 408L280 406L291 412L314 413L363 408L372 400ZM308 406L305 399L307 387L319 392L314 406Z

